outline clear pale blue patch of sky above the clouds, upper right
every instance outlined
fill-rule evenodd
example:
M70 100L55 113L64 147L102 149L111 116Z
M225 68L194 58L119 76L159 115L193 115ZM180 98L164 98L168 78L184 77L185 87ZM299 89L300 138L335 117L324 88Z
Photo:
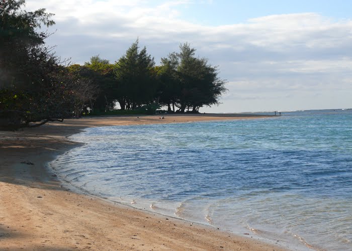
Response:
M197 1L181 6L185 20L207 25L245 23L257 17L292 13L317 13L333 19L349 19L352 5L347 0L242 0Z

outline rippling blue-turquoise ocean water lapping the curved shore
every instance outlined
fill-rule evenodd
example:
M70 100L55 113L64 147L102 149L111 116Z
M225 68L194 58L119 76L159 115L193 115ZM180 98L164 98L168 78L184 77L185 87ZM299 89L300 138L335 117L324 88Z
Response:
M350 109L90 128L70 140L86 144L51 166L89 193L291 249L352 250Z

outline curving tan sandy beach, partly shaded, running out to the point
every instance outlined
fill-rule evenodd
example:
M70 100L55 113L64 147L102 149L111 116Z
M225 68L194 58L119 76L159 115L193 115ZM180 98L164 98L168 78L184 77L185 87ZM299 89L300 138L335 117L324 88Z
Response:
M18 132L0 131L0 249L283 250L257 240L249 230L249 235L237 236L72 192L46 168L56 156L80 145L66 137L86 127L247 118L164 116L66 119Z

